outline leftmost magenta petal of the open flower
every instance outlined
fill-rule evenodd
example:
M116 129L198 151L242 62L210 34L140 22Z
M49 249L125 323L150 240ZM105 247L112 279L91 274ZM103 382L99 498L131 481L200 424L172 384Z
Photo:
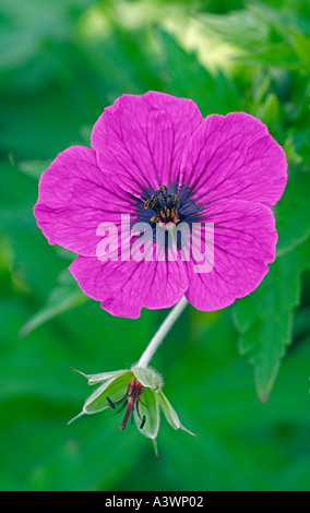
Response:
M94 150L72 146L60 153L39 180L34 207L38 227L50 244L96 255L98 226L119 224L120 213L134 211L130 194L97 166Z

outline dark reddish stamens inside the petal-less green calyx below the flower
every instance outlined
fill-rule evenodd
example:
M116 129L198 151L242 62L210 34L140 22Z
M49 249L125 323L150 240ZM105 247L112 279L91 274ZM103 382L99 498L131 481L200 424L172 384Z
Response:
M143 406L146 406L141 401L142 392L143 392L143 385L134 378L133 380L131 380L128 383L127 393L121 399L116 401L114 403L111 399L109 399L109 397L107 397L107 402L109 403L110 407L114 408L114 409L118 404L123 403L121 405L121 407L116 411L116 414L120 413L127 406L127 410L126 410L123 420L122 420L122 422L119 427L119 429L121 429L122 431L126 428L126 425L128 422L128 419L129 419L130 415L131 415L131 421L133 421L133 411L134 411L134 409L136 411L138 417L141 420L140 429L142 429L143 426L145 425L145 420L146 420L145 415L143 415L143 417L141 417L141 414L139 411L139 403L141 403Z

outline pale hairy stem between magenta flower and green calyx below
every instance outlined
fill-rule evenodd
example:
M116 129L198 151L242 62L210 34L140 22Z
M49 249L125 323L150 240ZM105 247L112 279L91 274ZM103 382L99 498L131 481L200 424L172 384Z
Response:
M142 354L136 367L147 367L151 359L153 358L154 354L156 353L158 346L162 344L163 339L167 335L168 331L172 327L177 319L180 317L182 311L184 310L186 306L188 305L188 300L183 297L169 312L166 317L163 324L159 326L158 331L155 333L153 338L151 339L150 344L147 345L146 349Z

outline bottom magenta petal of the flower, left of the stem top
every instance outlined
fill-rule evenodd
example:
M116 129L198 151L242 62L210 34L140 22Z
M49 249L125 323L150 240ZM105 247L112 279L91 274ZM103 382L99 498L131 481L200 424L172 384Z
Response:
M114 315L136 319L142 307L168 308L181 299L188 288L183 262L133 259L102 262L78 256L70 272L82 290Z

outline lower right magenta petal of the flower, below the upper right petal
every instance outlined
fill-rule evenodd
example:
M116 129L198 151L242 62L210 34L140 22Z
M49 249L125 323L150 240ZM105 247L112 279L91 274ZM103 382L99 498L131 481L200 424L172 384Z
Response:
M214 265L196 273L188 263L188 300L199 310L218 310L254 290L275 258L277 234L271 208L247 201L220 201L207 210L214 224ZM208 236L207 236L208 237Z

